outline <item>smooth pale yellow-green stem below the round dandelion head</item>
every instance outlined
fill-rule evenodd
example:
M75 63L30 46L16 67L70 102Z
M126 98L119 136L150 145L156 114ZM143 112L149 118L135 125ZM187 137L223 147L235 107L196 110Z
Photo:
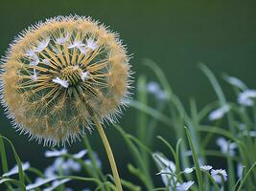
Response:
M101 138L104 142L105 152L106 152L107 158L108 158L110 166L111 166L111 170L112 170L112 173L113 173L113 176L114 176L114 180L115 180L117 190L118 191L123 191L122 185L121 185L121 180L120 180L120 177L119 177L119 174L118 174L118 171L117 171L117 167L116 167L116 162L115 162L111 147L109 145L109 142L108 142L108 140L105 136L104 128L103 128L102 124L99 122L97 117L93 117L93 121L94 121L94 123L95 123L95 125L96 125L96 127L99 131L99 134L100 134L100 136L101 136Z

